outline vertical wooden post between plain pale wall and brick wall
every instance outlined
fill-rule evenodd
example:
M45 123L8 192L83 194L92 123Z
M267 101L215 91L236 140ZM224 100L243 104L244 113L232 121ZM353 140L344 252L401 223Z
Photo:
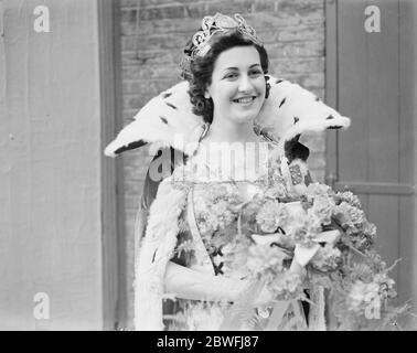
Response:
M118 329L120 315L120 238L124 232L118 200L121 161L104 156L105 147L118 130L121 100L118 1L97 0L98 67L100 93L101 180L101 288L103 330Z

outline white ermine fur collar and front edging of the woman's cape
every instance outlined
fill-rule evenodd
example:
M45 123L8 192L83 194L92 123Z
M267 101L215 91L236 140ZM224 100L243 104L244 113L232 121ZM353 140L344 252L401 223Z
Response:
M309 150L297 142L300 135L348 128L350 118L341 116L297 84L275 77L270 77L269 83L269 97L255 120L254 130L268 140L276 141L277 153L302 169ZM199 148L206 126L202 117L192 113L188 88L188 82L181 82L152 98L139 110L135 120L107 146L105 154L116 157L124 151L150 145L153 154L158 150L170 148L192 156ZM167 176L161 183L147 180L142 195L146 202L141 203L138 211L135 231L137 330L164 328L163 277L170 254L177 244L178 220L186 202L186 191L172 188L170 176ZM323 322L316 327L323 329Z

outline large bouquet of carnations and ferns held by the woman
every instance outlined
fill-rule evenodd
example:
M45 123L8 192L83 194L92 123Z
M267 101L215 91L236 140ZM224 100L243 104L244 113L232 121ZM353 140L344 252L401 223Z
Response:
M375 321L384 329L408 309L388 307L395 264L387 267L375 252L376 227L352 192L320 183L289 192L275 183L240 206L237 223L227 266L266 284L276 300L309 301L308 289L321 286L339 330L370 329ZM259 286L249 297L256 292Z

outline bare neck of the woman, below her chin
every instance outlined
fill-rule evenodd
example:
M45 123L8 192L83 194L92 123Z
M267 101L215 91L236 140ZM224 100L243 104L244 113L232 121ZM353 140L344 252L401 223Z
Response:
M237 124L233 121L213 119L206 140L211 142L257 142L259 137L254 131L253 121Z

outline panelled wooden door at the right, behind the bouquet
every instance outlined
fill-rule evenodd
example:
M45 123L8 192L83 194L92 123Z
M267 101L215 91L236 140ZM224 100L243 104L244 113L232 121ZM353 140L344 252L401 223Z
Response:
M327 180L360 195L386 261L403 258L398 302L416 298L416 13L413 1L327 1L327 99L352 118L329 133Z

